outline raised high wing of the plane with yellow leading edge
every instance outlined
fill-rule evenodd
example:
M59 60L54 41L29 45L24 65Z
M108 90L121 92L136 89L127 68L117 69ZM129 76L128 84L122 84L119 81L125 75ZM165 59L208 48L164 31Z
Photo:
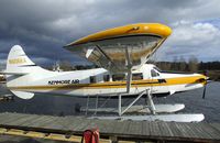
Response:
M65 46L110 72L129 72L145 64L170 35L160 23L138 23L101 31Z

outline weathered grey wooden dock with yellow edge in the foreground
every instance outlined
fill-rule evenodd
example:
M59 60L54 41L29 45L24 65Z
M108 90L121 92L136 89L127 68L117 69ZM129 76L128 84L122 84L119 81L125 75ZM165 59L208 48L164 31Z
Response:
M120 121L70 116L0 113L0 134L80 142L82 132L94 128L100 130L101 142L220 142L220 123Z

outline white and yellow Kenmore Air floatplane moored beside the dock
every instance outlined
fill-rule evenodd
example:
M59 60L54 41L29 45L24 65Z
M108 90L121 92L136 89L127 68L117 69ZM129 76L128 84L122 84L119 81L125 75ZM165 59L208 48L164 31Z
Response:
M165 73L155 65L146 64L170 33L170 28L164 24L138 23L79 38L64 48L101 68L73 72L51 72L36 66L20 45L14 45L3 72L7 75L7 87L22 99L31 99L35 94L118 99L116 108L96 108L98 111L116 111L117 116L92 118L201 121L205 118L202 113L176 114L185 108L182 103L155 105L153 101L154 97L166 97L207 84L205 75ZM132 102L123 107L122 99L129 97L133 98ZM135 106L140 98L146 99L145 105ZM127 112L148 114L128 116Z

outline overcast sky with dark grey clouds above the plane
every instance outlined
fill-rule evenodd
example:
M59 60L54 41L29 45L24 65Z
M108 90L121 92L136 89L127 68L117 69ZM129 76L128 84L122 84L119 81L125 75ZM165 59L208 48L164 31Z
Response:
M81 64L63 46L105 29L158 22L173 29L155 58L220 61L219 0L1 0L0 64L20 44L38 65Z

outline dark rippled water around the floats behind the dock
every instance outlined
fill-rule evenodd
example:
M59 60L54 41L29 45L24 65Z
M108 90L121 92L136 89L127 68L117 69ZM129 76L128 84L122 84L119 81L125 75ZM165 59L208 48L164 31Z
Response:
M155 98L155 103L184 103L186 107L180 112L204 113L205 122L220 122L220 82L210 82L207 86L206 99L204 100L204 89L196 89L187 92L177 94L167 98ZM9 94L4 87L0 87L1 95ZM90 99L90 107L95 107L95 100ZM131 99L130 99L131 100ZM23 100L15 97L15 100L0 102L0 112L22 112L35 114L54 116L78 116L75 112L76 105L86 106L87 99L36 95L33 99ZM128 99L127 99L128 101ZM102 101L103 102L103 101ZM139 103L143 103L141 99ZM117 107L118 100L111 99L107 107Z

